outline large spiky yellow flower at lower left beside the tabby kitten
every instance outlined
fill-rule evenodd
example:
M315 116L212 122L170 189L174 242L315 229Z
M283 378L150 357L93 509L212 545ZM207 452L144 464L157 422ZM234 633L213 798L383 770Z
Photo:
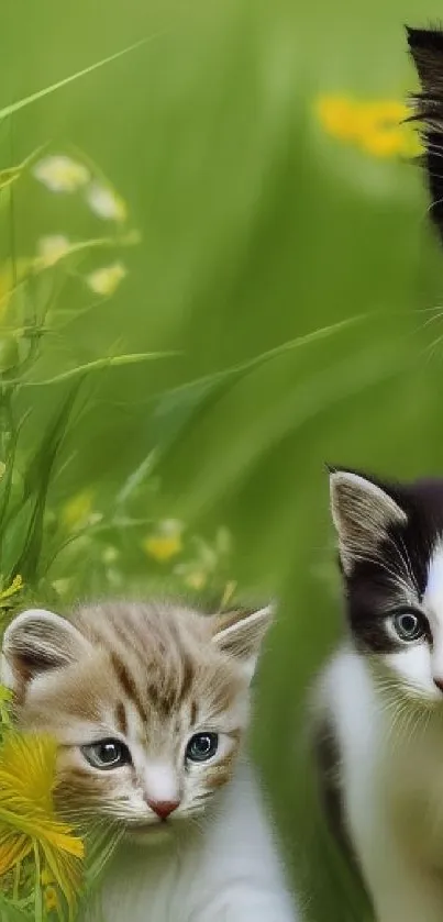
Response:
M53 740L12 731L4 737L0 747L0 878L26 856L38 854L73 914L85 847L55 813L56 757Z

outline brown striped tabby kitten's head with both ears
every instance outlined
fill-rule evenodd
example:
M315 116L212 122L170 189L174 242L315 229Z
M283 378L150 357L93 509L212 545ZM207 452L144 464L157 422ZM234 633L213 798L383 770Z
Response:
M198 815L231 777L269 618L164 604L19 615L3 681L19 725L59 743L60 809L134 835Z

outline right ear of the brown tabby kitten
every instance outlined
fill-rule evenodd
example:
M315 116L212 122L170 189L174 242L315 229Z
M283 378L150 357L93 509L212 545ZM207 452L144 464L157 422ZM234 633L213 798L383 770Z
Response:
M257 665L262 641L272 624L274 606L257 611L232 611L213 616L213 643L239 659L248 680Z

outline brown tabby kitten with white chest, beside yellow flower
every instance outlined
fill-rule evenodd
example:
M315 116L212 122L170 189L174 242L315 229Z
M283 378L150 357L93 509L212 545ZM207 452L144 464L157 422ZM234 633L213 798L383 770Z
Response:
M243 753L269 621L114 603L8 627L2 678L19 726L58 741L59 807L124 833L88 919L294 922Z

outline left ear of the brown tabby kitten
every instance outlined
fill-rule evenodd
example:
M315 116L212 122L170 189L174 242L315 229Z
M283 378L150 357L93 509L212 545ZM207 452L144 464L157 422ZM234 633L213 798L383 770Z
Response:
M76 663L88 644L65 618L44 609L18 614L3 635L2 681L13 688L41 673Z

